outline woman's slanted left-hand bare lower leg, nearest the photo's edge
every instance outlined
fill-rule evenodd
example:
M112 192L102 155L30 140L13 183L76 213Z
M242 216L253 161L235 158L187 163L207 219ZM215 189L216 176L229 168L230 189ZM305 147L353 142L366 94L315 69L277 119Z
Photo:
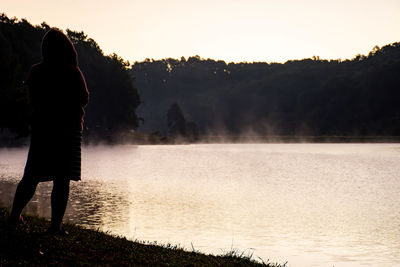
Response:
M9 219L11 224L17 225L19 216L26 204L28 204L35 194L37 185L38 182L35 181L35 179L30 179L25 176L22 177L15 191L13 207Z

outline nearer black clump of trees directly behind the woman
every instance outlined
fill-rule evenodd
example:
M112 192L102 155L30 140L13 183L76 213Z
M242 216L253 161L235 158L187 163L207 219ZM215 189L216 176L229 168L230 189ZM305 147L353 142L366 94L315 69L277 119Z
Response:
M41 40L49 29L46 23L33 26L25 19L0 15L0 131L29 134L30 106L25 80L32 64L41 60ZM79 66L90 91L85 135L89 139L104 139L136 129L140 97L129 62L116 54L104 55L83 32L67 30L66 34L78 52Z

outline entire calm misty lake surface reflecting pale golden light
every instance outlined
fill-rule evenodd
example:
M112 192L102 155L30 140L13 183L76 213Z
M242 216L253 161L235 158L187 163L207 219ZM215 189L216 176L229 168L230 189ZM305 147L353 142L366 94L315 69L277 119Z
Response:
M26 154L0 150L2 206ZM399 266L399 163L400 144L87 147L66 219L289 266ZM49 217L50 191L27 211Z

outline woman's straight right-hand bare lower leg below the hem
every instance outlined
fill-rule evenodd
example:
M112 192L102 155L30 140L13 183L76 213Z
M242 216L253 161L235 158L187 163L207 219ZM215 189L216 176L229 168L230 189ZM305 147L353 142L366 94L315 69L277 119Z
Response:
M69 179L55 179L51 192L51 228L61 230L62 219L67 208Z

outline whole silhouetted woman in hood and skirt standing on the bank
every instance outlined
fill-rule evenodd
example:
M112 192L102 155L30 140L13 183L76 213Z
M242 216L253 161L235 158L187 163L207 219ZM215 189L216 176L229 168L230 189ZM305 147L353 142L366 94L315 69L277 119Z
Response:
M16 226L39 182L53 181L51 227L62 226L69 181L81 179L81 141L84 107L88 103L85 79L77 53L61 31L49 30L42 40L42 61L28 77L32 105L32 134L24 175L15 192L9 222Z

